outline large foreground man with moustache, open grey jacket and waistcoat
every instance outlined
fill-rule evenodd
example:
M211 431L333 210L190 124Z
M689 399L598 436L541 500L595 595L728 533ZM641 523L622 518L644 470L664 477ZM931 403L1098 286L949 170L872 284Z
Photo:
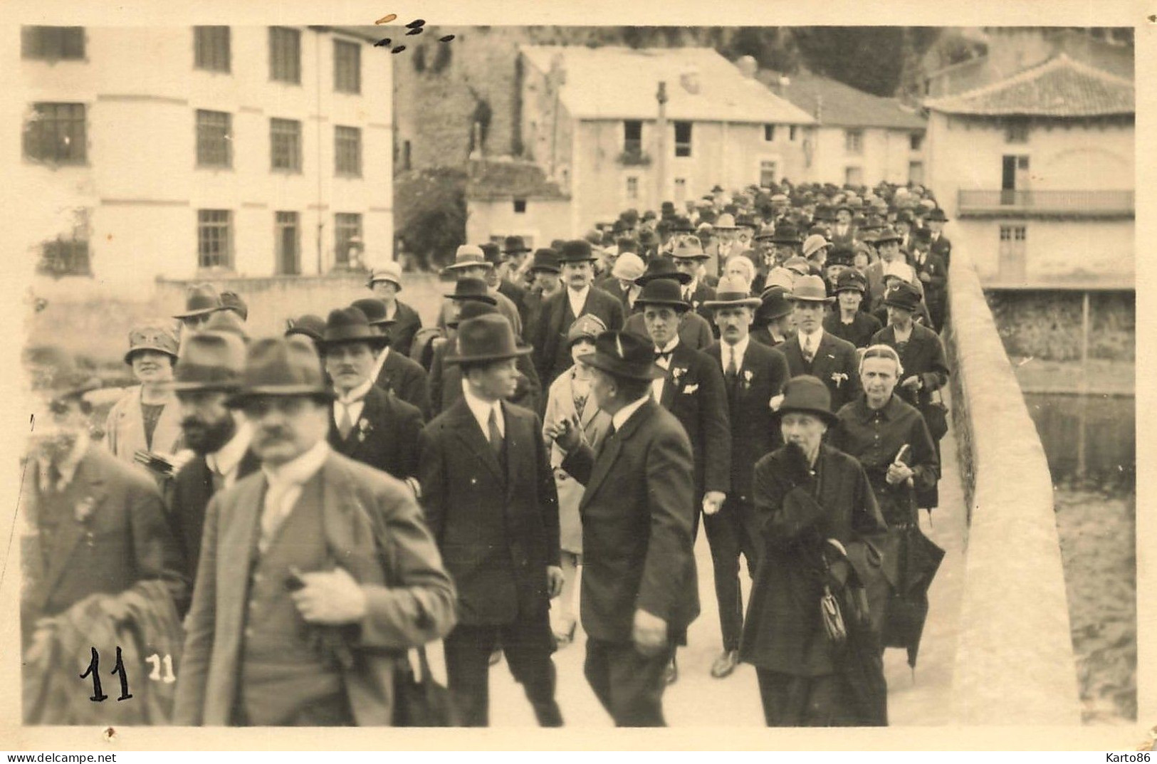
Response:
M330 448L332 399L310 345L249 346L261 469L209 501L175 723L389 726L396 654L454 625L413 493Z

